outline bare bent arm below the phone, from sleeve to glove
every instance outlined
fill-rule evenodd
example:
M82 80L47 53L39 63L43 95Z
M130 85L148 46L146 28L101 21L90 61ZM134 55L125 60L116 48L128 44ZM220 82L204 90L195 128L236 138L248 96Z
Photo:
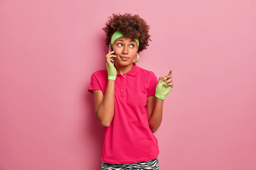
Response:
M107 80L105 96L102 91L93 91L95 98L95 114L102 126L108 127L114 117L114 80Z

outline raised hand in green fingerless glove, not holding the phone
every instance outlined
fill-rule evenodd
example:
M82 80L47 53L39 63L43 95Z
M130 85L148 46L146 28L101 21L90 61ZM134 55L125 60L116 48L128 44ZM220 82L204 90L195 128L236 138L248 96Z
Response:
M155 96L157 98L160 98L161 100L164 100L164 98L166 98L166 96L170 93L171 89L174 87L174 84L172 83L171 73L172 71L170 71L166 77L159 77L159 81L156 85Z

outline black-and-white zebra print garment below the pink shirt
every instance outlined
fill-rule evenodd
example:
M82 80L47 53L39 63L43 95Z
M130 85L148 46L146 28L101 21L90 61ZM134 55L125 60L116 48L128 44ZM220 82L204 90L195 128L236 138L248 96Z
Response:
M150 161L130 164L110 164L102 162L102 170L159 170L158 157Z

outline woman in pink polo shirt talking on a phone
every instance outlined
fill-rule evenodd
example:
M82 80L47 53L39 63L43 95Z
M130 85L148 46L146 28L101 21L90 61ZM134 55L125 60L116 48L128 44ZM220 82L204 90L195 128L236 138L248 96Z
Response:
M157 79L135 62L149 45L149 26L130 13L113 14L105 28L107 69L92 74L89 91L95 114L105 127L102 169L159 169L154 132L162 119L164 98L174 84L171 71ZM135 56L137 60L135 61Z

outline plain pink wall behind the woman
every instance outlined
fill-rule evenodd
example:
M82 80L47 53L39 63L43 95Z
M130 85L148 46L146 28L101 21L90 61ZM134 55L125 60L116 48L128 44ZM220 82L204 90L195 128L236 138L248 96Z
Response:
M256 169L256 3L0 1L0 169L98 170L103 127L87 92L105 69L102 27L139 14L151 42L138 66L173 70L161 170Z

